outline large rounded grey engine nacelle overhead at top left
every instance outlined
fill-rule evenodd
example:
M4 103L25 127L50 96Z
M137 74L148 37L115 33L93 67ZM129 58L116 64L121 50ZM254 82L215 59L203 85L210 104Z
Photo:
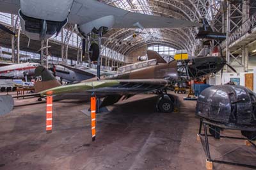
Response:
M22 33L32 40L44 40L67 24L73 0L20 0Z

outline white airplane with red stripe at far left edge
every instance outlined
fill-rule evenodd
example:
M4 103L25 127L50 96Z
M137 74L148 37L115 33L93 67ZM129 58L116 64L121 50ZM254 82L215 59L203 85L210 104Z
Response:
M38 63L22 63L0 67L0 79L26 79L35 74Z

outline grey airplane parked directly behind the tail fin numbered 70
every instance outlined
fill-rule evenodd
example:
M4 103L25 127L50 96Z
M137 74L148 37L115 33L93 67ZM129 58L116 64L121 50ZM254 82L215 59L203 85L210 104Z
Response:
M97 70L88 66L67 66L67 65L53 65L50 69L54 75L60 77L61 81L68 83L81 82L87 79L92 79L97 75ZM100 75L113 75L115 72L100 71Z

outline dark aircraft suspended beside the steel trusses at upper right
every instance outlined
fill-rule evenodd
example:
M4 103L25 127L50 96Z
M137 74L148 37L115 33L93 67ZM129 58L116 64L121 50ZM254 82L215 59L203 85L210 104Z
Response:
M226 40L227 34L212 31L212 28L206 19L200 19L200 23L202 23L203 26L199 28L199 32L196 35L197 39Z

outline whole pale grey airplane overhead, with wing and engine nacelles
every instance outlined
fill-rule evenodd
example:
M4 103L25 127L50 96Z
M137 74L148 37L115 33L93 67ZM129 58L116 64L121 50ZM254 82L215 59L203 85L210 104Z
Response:
M183 28L202 24L188 20L133 13L95 0L1 0L0 12L19 15L22 32L32 40L60 33L65 24L76 24L81 35L111 28ZM0 26L6 31L6 27ZM10 32L10 30L6 31Z

